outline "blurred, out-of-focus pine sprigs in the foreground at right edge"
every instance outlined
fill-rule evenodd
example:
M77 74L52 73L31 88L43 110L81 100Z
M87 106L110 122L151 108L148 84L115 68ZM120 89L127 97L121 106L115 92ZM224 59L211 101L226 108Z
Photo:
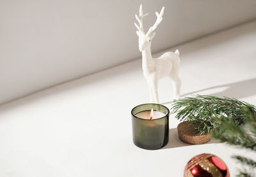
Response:
M250 105L242 108L245 125L241 126L236 122L230 121L230 118L221 116L216 120L219 129L214 130L212 138L219 139L221 142L227 142L230 145L240 146L247 150L256 152L256 109ZM247 128L246 128L247 127ZM237 177L256 176L256 161L240 155L234 155L234 159L244 165Z

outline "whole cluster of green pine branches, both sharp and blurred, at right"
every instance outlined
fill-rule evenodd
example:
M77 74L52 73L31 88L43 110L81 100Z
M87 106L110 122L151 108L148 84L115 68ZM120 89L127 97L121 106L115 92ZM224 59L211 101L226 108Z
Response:
M198 95L175 101L172 110L175 112L180 110L176 118L191 121L191 125L200 134L211 133L212 138L219 139L221 142L256 152L254 105L234 98ZM240 170L237 177L255 176L255 160L240 155L234 155L233 158L246 166Z

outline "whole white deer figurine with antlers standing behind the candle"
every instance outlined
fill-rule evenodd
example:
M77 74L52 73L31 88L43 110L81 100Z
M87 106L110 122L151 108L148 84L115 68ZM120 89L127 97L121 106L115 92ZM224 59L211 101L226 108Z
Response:
M180 58L179 58L179 50L173 52L166 52L161 57L152 58L151 55L151 41L154 38L156 32L157 25L161 23L163 20L164 7L162 8L160 13L156 11L156 22L152 27L148 29L148 32L145 33L143 29L143 17L147 14L143 14L142 5L140 5L140 16L135 15L138 20L139 25L134 23L137 27L138 31L136 33L139 36L139 50L142 52L142 69L143 75L145 76L148 82L148 88L150 92L150 101L151 103L159 103L158 98L158 80L168 76L173 81L173 90L175 99L179 99L180 97L180 78L179 78L179 66L180 66Z

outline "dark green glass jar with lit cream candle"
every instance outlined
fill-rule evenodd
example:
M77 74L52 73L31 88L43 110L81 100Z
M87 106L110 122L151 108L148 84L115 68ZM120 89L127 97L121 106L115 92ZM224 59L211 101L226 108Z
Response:
M134 145L156 150L169 140L169 110L161 104L141 104L132 109L132 138Z

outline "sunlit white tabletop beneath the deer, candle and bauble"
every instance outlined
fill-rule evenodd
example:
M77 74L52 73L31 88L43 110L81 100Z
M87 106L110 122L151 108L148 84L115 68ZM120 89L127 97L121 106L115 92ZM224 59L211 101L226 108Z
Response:
M176 48L182 96L209 94L256 104L256 21ZM168 108L171 93L170 81L162 80L160 100ZM134 146L131 109L147 102L141 60L134 60L4 104L0 176L182 176L199 153L218 155L235 176L240 165L231 155L256 160L255 153L224 143L182 143L173 115L163 149Z

